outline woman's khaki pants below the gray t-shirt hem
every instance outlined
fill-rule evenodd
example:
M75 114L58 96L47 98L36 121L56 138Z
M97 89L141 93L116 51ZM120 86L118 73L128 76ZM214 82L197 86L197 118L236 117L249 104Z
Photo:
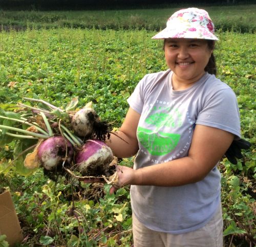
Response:
M222 247L223 220L221 205L202 228L184 234L168 234L150 230L133 216L134 247Z

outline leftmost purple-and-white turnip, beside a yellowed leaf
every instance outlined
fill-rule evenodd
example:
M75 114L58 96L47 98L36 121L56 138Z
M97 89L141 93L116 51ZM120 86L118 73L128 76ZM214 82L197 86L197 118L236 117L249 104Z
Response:
M71 163L73 158L73 146L65 138L51 137L38 147L38 159L40 164L48 171L55 170L63 161Z

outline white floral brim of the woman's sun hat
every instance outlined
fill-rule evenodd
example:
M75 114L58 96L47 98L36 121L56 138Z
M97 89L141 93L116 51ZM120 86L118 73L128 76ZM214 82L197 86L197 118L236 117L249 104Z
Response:
M152 37L153 39L166 39L166 38L191 38L191 39L210 39L219 40L214 34L212 34L208 29L203 27L187 28L177 31L177 28L165 28L158 34Z

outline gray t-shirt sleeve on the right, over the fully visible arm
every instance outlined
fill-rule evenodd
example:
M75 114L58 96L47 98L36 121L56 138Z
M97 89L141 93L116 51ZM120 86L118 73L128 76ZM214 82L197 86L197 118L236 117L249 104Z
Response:
M196 124L223 129L241 137L237 97L230 87L205 97Z

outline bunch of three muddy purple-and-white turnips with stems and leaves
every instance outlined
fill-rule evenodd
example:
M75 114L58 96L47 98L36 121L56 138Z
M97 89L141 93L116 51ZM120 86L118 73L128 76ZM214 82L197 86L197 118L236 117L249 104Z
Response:
M24 100L27 103L18 103L14 111L1 109L1 145L26 139L32 145L24 159L25 167L42 166L50 172L64 169L78 178L102 177L110 182L117 159L104 141L111 131L100 121L91 102L74 110L77 98L65 109L40 99Z

